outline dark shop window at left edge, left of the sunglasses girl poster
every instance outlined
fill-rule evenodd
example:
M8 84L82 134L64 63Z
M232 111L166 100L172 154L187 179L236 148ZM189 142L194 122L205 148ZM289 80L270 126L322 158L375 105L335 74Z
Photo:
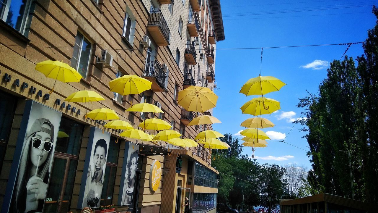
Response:
M12 127L12 119L15 110L15 97L0 91L0 172L3 167L6 144Z

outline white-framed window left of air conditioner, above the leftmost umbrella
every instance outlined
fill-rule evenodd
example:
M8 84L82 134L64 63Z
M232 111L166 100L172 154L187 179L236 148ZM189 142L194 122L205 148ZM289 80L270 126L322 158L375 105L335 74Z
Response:
M92 44L81 33L77 32L71 58L71 67L76 69L83 78L87 77L91 49Z

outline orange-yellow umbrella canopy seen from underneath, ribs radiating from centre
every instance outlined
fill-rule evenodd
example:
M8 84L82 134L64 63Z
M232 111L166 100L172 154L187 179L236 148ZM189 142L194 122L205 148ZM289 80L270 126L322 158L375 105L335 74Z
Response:
M178 92L178 104L186 111L204 112L214 108L218 96L207 87L189 86Z

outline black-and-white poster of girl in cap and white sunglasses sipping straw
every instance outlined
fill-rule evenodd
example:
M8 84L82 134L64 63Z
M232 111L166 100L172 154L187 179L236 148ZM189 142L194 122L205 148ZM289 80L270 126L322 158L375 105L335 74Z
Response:
M25 114L26 134L9 212L42 212L62 113L33 101L29 117Z

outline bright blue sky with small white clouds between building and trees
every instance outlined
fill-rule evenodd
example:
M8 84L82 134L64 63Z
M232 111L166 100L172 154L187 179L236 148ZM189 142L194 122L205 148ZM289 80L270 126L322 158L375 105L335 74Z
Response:
M218 89L215 92L219 99L213 111L222 124L214 124L214 129L235 134L243 129L242 121L253 117L242 114L239 108L256 96L245 96L239 90L249 78L260 73L261 49L221 49L365 41L367 30L375 25L376 18L371 13L373 4L378 5L378 1L222 0L225 41L217 43L215 80ZM347 45L335 45L263 50L261 75L274 76L287 84L280 91L264 96L281 102L281 110L263 116L276 124L274 128L263 129L264 132L271 131L276 140L288 134L293 127L291 121L304 110L296 107L298 99L306 96L306 90L318 91L319 83L327 76L329 63L339 60L346 48ZM362 54L361 44L352 45L347 52L353 58ZM297 124L285 142L308 150L300 128ZM255 158L259 163L295 162L310 169L311 163L302 149L272 141L268 147L256 148ZM251 147L244 148L243 154L251 156L251 153Z

